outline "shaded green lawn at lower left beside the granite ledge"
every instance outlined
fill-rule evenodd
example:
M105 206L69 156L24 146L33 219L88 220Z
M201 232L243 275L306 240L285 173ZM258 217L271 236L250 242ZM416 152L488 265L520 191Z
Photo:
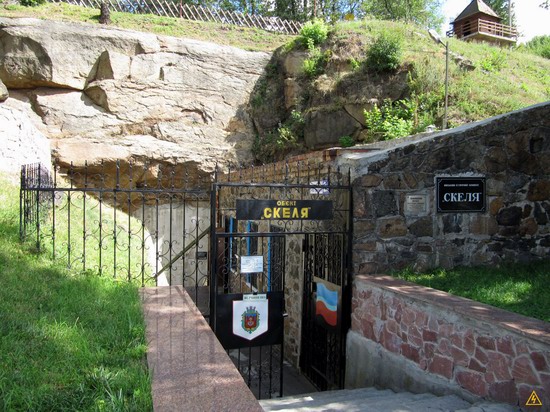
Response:
M18 206L2 179L0 410L152 410L138 287L21 244Z

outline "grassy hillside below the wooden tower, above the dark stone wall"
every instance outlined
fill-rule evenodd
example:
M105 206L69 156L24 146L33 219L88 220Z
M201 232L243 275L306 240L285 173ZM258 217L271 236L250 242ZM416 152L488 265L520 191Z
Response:
M404 39L404 64L424 62L429 81L444 85L445 48L417 26L367 20L336 26L334 36L347 42L349 57L361 61L364 49L381 32L400 33ZM476 69L464 70L451 59L449 78L449 124L481 120L550 100L550 60L518 50L449 39L451 52L470 60ZM344 51L345 53L345 51ZM502 67L491 62L501 59Z

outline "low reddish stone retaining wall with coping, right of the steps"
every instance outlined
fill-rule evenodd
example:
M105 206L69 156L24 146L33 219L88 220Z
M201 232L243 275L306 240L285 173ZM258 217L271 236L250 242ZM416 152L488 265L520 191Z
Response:
M387 276L358 276L346 387L455 393L550 410L550 324ZM537 409L540 410L540 409Z

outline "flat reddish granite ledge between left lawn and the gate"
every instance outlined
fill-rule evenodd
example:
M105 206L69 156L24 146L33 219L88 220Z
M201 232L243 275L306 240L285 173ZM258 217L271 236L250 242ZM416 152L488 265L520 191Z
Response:
M181 286L141 290L153 407L162 411L262 411Z

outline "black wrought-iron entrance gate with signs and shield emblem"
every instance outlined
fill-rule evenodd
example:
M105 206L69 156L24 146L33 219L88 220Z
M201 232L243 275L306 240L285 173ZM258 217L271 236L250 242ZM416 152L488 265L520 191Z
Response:
M283 396L285 352L301 354L319 389L343 386L350 226L349 172L283 165L216 175L210 323L259 399Z

